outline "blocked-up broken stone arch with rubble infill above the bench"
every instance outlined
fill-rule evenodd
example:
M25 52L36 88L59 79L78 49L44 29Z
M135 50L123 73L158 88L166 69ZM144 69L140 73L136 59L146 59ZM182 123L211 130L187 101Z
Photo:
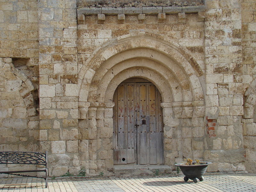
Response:
M9 104L1 109L0 118L3 118L1 121L7 132L2 132L0 148L5 151L37 151L39 119L32 94L35 87L26 75L13 66L11 58L5 58L3 73L6 75L1 80L6 83L2 94Z

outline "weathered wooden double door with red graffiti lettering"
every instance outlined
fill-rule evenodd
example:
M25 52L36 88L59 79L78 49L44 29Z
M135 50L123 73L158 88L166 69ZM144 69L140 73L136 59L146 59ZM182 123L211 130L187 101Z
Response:
M123 82L113 100L114 164L164 164L162 98L156 86Z

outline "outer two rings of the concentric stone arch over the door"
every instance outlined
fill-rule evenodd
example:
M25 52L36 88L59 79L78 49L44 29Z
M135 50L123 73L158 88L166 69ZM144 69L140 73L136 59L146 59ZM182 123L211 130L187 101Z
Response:
M185 90L190 89L189 92L193 95L190 101L204 100L198 79L203 71L181 46L167 40L169 39L160 38L159 35L143 33L137 36L121 36L104 44L93 53L94 56L86 61L79 72L79 101L87 101L89 91L93 92L98 87L102 76L116 63L131 58L148 58L158 62L176 75Z

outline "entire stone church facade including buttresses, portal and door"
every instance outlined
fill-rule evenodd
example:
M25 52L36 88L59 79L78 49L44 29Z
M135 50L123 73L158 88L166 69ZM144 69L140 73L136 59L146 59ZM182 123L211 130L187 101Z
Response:
M256 172L255 10L2 0L0 150L48 151L55 176L183 158Z

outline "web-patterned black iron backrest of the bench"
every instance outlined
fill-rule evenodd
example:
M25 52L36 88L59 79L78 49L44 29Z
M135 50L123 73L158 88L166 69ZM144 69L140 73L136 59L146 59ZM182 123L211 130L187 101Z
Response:
M45 153L0 151L0 164L36 164L47 166L47 151Z

